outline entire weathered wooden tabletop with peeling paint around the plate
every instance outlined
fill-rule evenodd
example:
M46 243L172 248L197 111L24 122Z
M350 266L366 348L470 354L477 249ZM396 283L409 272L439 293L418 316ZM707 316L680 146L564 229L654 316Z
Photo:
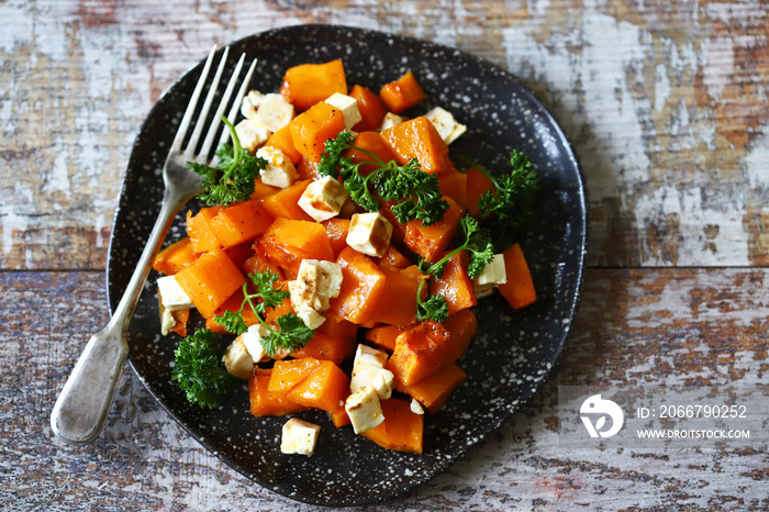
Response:
M559 449L554 426L564 385L769 383L769 4L750 0L0 2L0 502L314 509L207 453L131 370L94 444L48 424L108 320L110 226L144 116L212 43L301 23L509 69L562 125L589 190L589 269L550 379L447 471L369 509L769 509L766 441L595 455Z

